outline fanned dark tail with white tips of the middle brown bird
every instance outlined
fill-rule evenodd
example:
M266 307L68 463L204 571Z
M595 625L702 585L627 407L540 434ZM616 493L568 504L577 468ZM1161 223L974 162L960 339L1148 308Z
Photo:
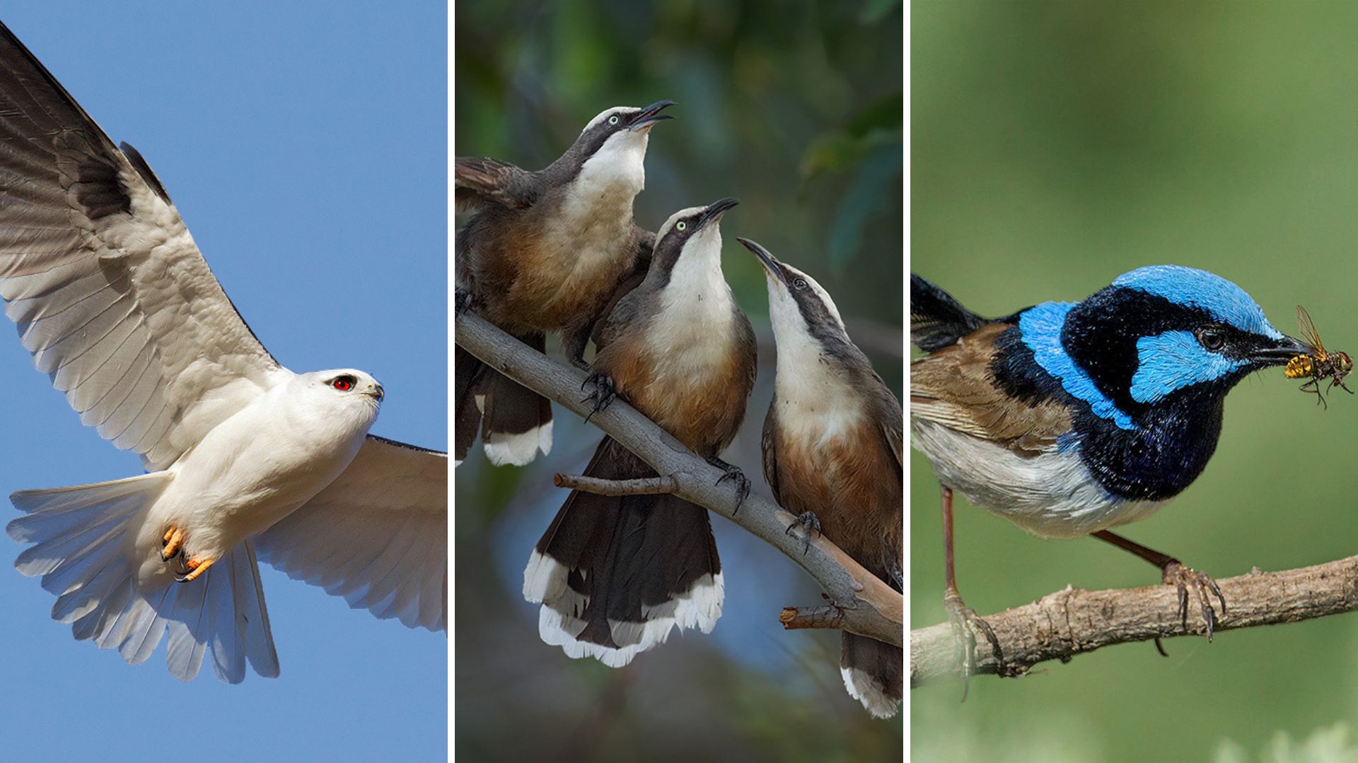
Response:
M585 474L656 477L608 437ZM710 633L722 593L708 510L674 496L570 493L523 572L524 599L542 603L542 639L614 668L675 626Z

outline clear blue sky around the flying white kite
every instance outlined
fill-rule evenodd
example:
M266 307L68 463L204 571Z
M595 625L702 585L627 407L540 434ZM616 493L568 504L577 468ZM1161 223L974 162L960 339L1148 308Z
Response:
M7 4L114 141L140 149L223 288L293 371L387 390L373 432L447 448L445 8ZM411 10L414 8L414 10ZM0 494L140 472L0 327ZM16 512L4 501L0 519ZM239 686L77 642L0 538L4 758L443 760L447 638L262 570L282 675Z

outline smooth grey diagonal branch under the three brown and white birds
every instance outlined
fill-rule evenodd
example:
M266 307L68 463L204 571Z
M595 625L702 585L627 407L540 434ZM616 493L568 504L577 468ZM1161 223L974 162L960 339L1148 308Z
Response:
M463 312L456 316L458 345L509 379L585 417L592 403L583 402L584 373L568 368L519 342L485 319ZM618 399L595 413L589 421L622 447L646 462L657 474L675 483L680 498L705 506L778 548L824 588L831 606L842 611L839 627L902 646L904 644L904 599L885 582L815 535L807 546L804 529L785 532L796 517L760 496L751 494L736 508L737 486L705 459L683 447L669 433Z

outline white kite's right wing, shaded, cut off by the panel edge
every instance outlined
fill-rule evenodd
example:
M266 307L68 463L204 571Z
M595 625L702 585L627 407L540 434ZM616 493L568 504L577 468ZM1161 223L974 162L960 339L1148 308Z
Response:
M448 629L448 455L368 436L348 468L255 538L288 577L409 627Z

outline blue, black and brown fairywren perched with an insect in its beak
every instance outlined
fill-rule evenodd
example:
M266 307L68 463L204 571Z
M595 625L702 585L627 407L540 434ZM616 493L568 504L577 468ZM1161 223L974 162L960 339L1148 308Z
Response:
M1213 580L1108 531L1149 516L1192 483L1221 434L1226 392L1305 353L1240 286L1175 265L1120 276L1080 303L1048 301L986 319L910 277L911 444L942 486L944 597L966 679L975 634L953 574L952 491L1042 538L1093 535L1192 589L1211 638L1226 601ZM1158 642L1157 642L1158 646ZM966 696L966 695L964 695Z

